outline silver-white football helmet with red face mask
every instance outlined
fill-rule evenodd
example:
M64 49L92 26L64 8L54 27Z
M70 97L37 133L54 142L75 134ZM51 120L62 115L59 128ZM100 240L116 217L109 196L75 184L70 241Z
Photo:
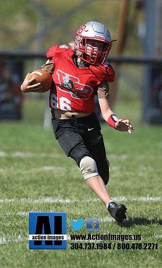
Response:
M87 39L94 39L104 43L103 51L87 49ZM112 41L108 29L100 22L89 21L75 31L75 50L79 58L90 64L104 64L111 49ZM88 55L89 53L90 55Z

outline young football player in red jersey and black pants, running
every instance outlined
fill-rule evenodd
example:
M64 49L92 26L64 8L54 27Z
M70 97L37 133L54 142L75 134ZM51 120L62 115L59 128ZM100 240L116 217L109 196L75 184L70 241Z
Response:
M105 204L119 223L126 219L126 206L117 205L107 191L109 162L95 114L94 96L98 96L103 118L118 131L131 134L128 119L119 119L111 110L108 82L114 81L114 70L107 62L112 41L108 29L90 21L75 32L75 41L55 45L47 52L42 69L54 80L50 107L55 138L67 156L73 158L86 183ZM39 92L41 84L31 85L29 74L21 85L23 92Z

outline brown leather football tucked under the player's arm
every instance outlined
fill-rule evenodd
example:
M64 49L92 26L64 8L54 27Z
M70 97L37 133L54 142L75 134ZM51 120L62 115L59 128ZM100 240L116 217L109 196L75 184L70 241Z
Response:
M35 80L33 80L31 85L41 83L42 89L39 91L40 93L47 92L48 90L51 89L53 78L48 72L44 70L35 70L32 73L30 73L28 80L32 78L35 78Z

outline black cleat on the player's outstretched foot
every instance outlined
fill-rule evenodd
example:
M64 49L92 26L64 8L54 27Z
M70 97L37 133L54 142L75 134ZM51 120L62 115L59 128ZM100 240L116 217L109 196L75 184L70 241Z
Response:
M108 204L108 212L117 222L122 223L123 220L126 220L126 210L126 206L123 204L119 206L115 202Z

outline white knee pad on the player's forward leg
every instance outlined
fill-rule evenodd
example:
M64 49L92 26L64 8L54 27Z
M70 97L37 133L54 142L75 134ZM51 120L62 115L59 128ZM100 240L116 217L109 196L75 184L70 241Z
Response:
M80 170L85 180L98 175L96 162L90 156L84 156L81 159Z

